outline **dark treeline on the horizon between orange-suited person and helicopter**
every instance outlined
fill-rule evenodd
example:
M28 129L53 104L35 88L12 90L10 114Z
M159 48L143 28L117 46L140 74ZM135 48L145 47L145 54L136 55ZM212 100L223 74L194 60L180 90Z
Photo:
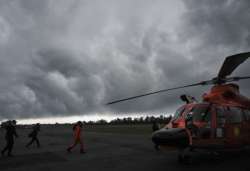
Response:
M86 125L122 125L122 124L151 124L153 122L157 122L159 124L168 123L171 120L172 116L165 117L160 115L159 117L156 116L146 116L146 117L124 117L124 118L116 118L111 121L106 121L104 119L100 119L98 121L88 121L84 122Z

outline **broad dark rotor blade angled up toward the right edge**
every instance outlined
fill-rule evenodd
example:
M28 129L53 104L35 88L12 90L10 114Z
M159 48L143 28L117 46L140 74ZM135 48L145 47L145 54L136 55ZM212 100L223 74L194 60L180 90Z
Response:
M228 56L218 74L218 78L225 78L226 76L232 74L232 72L243 63L248 57L250 57L250 52L239 53L232 56Z

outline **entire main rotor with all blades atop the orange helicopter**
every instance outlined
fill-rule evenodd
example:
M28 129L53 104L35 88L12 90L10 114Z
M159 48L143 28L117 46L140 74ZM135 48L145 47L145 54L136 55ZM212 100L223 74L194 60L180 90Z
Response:
M162 93L162 92L167 92L167 91L177 90L177 89L182 89L182 88L187 88L187 87L194 87L194 86L199 86L199 85L211 85L211 84L224 84L227 82L234 82L234 81L239 81L239 80L250 79L250 76L227 77L227 76L231 75L232 72L249 57L250 57L250 52L239 53L239 54L235 54L235 55L231 55L231 56L226 57L225 61L222 64L222 67L218 73L218 76L211 79L211 80L201 81L201 82L198 82L195 84L189 84L189 85L184 85L184 86L180 86L180 87L152 91L152 92L140 94L137 96L132 96L132 97L128 97L128 98L123 98L123 99L111 101L111 102L108 102L106 105L111 105L111 104L120 103L120 102L127 101L127 100L132 100L132 99L141 98L144 96L149 96L149 95L153 95L153 94L158 94L158 93Z

